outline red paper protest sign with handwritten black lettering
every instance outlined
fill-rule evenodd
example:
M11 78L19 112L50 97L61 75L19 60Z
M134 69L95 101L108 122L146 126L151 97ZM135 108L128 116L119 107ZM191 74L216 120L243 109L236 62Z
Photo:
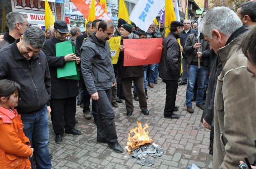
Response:
M139 66L159 63L163 38L123 39L124 66Z

